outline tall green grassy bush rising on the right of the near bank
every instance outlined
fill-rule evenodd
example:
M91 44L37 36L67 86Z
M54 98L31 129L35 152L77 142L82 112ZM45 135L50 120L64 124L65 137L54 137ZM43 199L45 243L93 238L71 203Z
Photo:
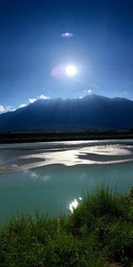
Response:
M122 266L130 266L133 256L132 194L114 194L105 186L83 197L66 229L91 242L94 250ZM124 265L127 264L127 265ZM128 265L129 264L129 265Z

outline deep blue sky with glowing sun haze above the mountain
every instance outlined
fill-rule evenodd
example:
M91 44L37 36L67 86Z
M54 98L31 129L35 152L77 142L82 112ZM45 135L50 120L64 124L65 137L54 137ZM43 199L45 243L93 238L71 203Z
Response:
M37 98L133 99L132 10L133 0L0 0L0 113Z

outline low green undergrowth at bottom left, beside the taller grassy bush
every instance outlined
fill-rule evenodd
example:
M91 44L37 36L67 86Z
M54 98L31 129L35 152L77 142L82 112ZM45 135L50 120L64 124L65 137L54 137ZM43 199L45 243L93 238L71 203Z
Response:
M12 219L0 233L0 266L101 267L83 240L74 239L58 220L37 216Z

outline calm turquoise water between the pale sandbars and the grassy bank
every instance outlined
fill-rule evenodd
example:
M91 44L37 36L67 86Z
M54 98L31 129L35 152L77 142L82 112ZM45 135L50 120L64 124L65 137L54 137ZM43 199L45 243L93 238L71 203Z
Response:
M7 151L6 157L3 153L5 162L13 152ZM19 153L14 152L15 157ZM72 166L55 163L4 172L0 175L0 222L21 212L63 215L74 199L78 200L82 193L94 190L97 185L104 183L117 192L129 192L132 181L133 161L83 164L82 160L82 164Z

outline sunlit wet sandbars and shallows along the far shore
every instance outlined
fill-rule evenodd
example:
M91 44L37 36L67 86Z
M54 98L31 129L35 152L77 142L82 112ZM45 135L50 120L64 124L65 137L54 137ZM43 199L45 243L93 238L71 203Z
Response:
M133 140L48 142L0 146L0 174L44 165L133 161Z

